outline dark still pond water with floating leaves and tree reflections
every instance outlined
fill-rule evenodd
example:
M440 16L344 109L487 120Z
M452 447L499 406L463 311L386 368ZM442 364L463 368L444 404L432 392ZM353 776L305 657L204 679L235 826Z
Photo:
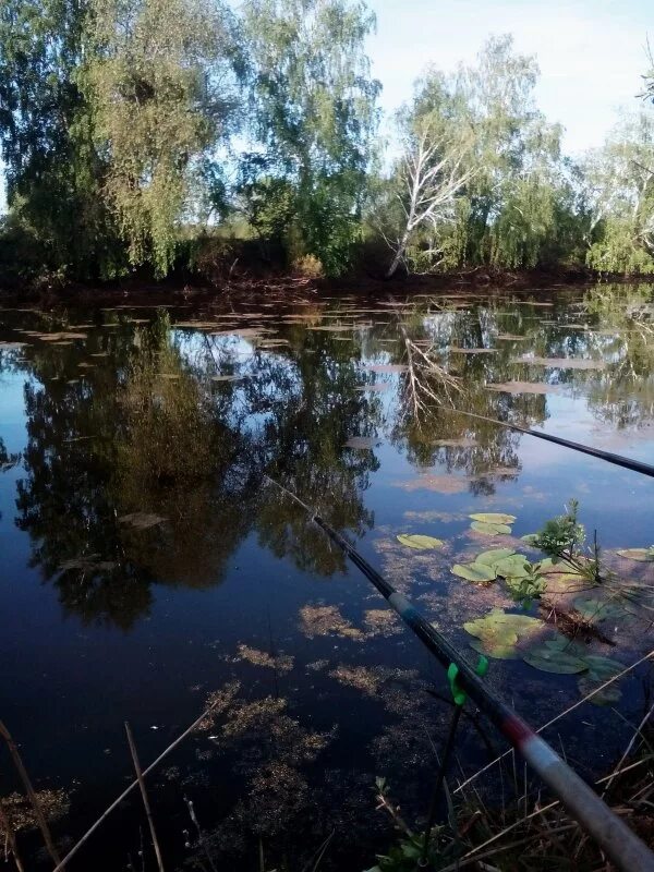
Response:
M327 865L372 864L392 837L375 776L409 819L424 813L444 675L262 475L470 651L465 620L520 606L501 583L450 573L495 542L469 513L517 516L517 542L574 497L610 552L652 544L654 498L645 477L451 409L654 463L653 299L651 286L603 286L0 310L0 717L37 788L70 795L62 847L130 779L124 720L145 764L221 691L215 723L153 776L167 867L209 868L185 799L219 868L258 869L261 840L267 868L286 857L300 870L330 833ZM507 382L538 392L487 387ZM400 533L446 546L414 552ZM628 664L647 629L610 626L616 646L590 644ZM602 771L647 679L622 683L621 717L585 703L548 738L582 774ZM488 681L534 725L579 699L577 676L521 662L492 661ZM452 784L501 747L465 722ZM141 868L144 827L134 797L71 869Z

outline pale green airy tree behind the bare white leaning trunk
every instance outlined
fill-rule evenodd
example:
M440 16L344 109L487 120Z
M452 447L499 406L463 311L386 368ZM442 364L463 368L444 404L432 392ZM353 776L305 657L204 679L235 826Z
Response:
M449 184L450 195L438 220L423 222L408 240L414 266L541 262L556 234L566 182L561 130L534 102L537 75L534 58L516 55L512 38L501 36L486 43L474 65L449 75L431 70L419 83L400 126L417 145L425 129L433 131L432 164L443 165L439 190ZM415 166L416 154L410 148L397 172Z

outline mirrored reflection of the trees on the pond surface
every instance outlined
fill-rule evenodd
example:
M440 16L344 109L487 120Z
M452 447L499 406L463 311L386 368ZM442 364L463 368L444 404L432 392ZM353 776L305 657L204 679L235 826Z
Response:
M172 320L5 313L0 371L27 375L15 523L66 611L123 629L148 614L154 583L219 584L251 534L299 569L341 572L342 554L262 487L264 471L358 538L374 525L376 441L472 493L519 474L520 435L456 410L543 425L549 395L488 385L582 393L598 421L642 427L654 414L651 300L650 287L602 286L581 301L465 307L451 296ZM0 443L0 470L15 462Z

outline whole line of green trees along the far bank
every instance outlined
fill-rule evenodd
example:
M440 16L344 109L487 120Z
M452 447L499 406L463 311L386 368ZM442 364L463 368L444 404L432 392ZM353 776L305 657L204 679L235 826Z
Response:
M429 68L391 132L374 26L360 0L4 0L4 280L654 272L654 72L573 160L535 58L492 37Z

